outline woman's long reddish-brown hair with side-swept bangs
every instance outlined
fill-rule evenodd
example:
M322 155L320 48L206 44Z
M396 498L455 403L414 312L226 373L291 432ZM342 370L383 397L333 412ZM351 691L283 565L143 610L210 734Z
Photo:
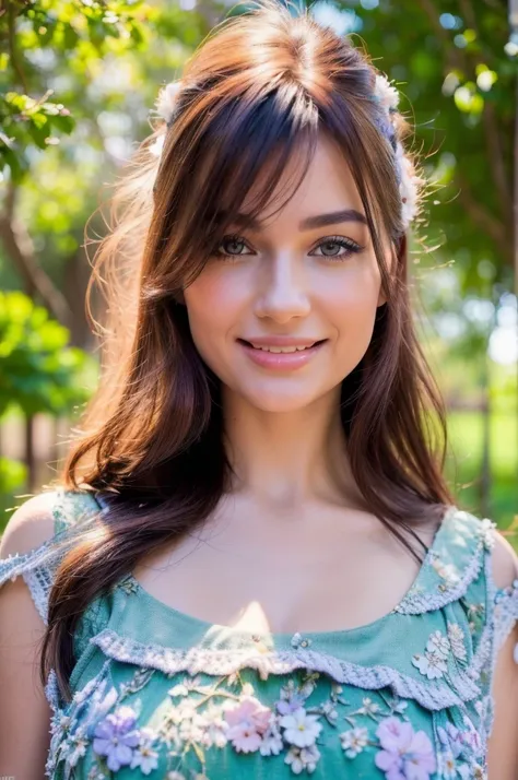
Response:
M59 477L109 498L102 531L67 554L50 594L40 673L55 669L66 698L73 629L87 604L144 554L203 522L229 489L220 380L195 347L181 291L259 174L268 175L251 216L296 158L301 176L280 208L287 202L319 133L351 166L387 296L364 358L342 383L352 474L369 510L414 553L407 531L439 522L452 503L443 401L412 321L393 152L372 99L376 69L350 39L293 11L259 0L225 19L185 68L174 122L152 127L117 185L87 291L92 314L101 281L108 311L101 382ZM401 115L397 131L410 133ZM164 132L158 162L150 146Z

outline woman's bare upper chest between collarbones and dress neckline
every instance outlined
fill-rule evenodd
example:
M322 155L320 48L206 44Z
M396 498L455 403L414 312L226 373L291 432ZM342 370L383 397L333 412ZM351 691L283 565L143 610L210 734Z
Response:
M419 568L373 516L308 506L266 517L245 504L148 556L133 574L157 601L209 623L294 633L382 617Z

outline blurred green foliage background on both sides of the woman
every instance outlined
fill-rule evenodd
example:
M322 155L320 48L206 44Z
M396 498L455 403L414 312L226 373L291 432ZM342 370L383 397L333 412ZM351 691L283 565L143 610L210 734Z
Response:
M0 286L14 294L0 298L4 416L13 404L24 414L73 415L83 402L82 371L95 362L83 307L86 220L149 132L160 85L179 75L225 14L246 8L11 0L0 15ZM460 407L451 413L448 475L459 503L507 527L518 507L518 371L513 359L487 356L502 320L516 311L518 45L509 42L506 4L343 0L313 3L310 12L367 47L415 126L413 146L434 188L412 245L412 274L426 348ZM476 407L486 401L484 442ZM12 498L24 478L23 465L0 460L4 495Z

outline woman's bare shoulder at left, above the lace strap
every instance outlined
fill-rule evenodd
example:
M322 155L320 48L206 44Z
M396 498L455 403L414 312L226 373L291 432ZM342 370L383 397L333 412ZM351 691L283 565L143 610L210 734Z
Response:
M16 508L0 539L0 558L28 553L54 536L56 497L57 491L44 491Z

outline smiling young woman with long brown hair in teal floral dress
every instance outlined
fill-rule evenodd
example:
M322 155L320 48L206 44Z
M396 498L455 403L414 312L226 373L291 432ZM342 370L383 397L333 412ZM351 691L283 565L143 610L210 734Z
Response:
M101 388L2 540L0 775L516 780L517 560L443 477L396 87L264 0L157 109Z

